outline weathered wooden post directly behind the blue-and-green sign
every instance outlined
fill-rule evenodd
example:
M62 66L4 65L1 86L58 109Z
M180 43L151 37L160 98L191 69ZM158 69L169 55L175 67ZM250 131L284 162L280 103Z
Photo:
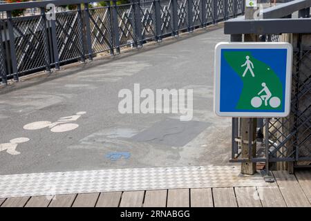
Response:
M245 3L246 6L246 3ZM254 19L256 8L245 7L245 19ZM257 35L245 35L244 41L258 41ZM242 118L241 120L241 156L242 158L256 157L256 118ZM245 142L247 141L247 142ZM241 173L253 175L256 173L256 163L244 162L241 165Z

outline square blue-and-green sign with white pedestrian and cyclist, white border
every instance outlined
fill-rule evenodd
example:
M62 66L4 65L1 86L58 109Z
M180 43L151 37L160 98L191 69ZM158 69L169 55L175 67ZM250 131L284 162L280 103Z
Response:
M289 114L290 44L220 43L216 46L215 59L217 115L285 117Z

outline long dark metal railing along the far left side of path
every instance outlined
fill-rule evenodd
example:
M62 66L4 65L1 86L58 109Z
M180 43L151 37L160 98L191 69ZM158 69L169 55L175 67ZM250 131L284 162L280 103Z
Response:
M76 10L56 12L47 19L46 6L64 1L32 1L0 5L1 81L19 79L38 70L50 71L73 61L92 59L100 52L120 52L178 32L204 28L243 13L244 0L151 0L89 8L92 0L68 0ZM111 4L112 2L112 4ZM21 8L39 8L39 15L12 17Z

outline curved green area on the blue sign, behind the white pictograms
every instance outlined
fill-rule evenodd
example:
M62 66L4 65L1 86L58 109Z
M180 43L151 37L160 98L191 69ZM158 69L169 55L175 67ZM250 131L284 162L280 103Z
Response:
M282 84L270 66L252 57L252 52L230 51L224 56L243 81L237 109L282 110Z

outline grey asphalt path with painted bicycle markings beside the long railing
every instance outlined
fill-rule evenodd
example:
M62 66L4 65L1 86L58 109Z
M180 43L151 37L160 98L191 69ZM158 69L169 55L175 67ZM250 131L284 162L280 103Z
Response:
M212 111L214 46L228 40L220 25L1 88L0 174L229 164L231 119ZM135 83L194 89L193 119L120 114Z

